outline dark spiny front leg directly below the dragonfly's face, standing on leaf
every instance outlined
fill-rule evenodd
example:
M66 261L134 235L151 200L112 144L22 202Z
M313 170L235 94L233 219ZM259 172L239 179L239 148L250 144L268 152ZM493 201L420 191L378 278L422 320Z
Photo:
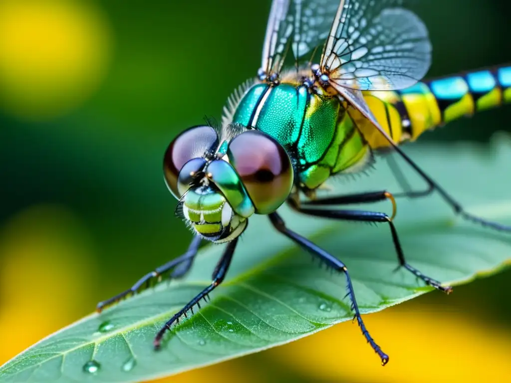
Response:
M213 272L213 281L207 288L202 290L199 294L195 296L190 302L188 302L183 308L181 308L174 316L165 323L164 326L161 327L161 329L156 334L156 337L154 338L154 348L159 349L161 345L161 339L163 338L165 332L171 328L171 326L174 323L179 323L179 318L181 317L187 317L187 313L190 311L193 315L193 307L197 305L200 308L200 300L204 299L206 300L206 297L208 297L208 294L210 294L215 288L222 283L225 274L227 273L227 270L229 269L230 261L233 259L234 250L236 249L236 245L238 243L238 237L235 238L233 241L229 242L227 244L227 247L224 250L224 253L222 254L222 257L218 261L217 266L215 267L215 271Z

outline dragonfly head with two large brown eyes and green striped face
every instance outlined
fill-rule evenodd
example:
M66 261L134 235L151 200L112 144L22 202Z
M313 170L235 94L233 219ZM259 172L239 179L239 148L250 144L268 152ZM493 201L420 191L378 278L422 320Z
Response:
M210 126L185 130L169 145L164 175L176 211L207 240L233 240L252 214L269 214L293 186L293 168L272 137L245 130L220 140Z

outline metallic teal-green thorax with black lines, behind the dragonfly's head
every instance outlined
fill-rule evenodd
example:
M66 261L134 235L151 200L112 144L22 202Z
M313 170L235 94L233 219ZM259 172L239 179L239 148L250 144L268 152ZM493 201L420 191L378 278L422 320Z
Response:
M294 162L296 178L308 189L365 163L369 154L339 99L313 93L305 85L252 86L238 104L233 123L254 127L280 142Z

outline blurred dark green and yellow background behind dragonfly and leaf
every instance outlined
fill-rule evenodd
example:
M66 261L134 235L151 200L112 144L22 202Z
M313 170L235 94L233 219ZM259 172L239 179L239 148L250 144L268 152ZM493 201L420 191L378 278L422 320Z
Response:
M433 43L429 77L511 61L510 3L417 3ZM162 155L180 130L219 119L255 75L269 7L0 0L0 364L184 251L191 234L174 218ZM511 131L510 115L505 106L422 140L485 145ZM509 277L367 316L393 347L385 369L343 323L166 381L511 379Z

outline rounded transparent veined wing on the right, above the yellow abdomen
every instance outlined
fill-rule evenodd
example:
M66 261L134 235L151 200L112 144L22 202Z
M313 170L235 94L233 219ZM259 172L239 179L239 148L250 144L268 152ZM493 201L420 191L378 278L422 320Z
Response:
M359 90L393 90L420 81L431 64L422 20L404 0L342 0L321 56L332 83Z

